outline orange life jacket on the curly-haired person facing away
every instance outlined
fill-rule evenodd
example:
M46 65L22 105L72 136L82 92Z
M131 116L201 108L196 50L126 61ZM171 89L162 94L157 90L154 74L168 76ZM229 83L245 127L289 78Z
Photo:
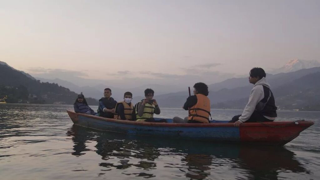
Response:
M203 94L196 94L197 103L189 109L188 120L195 120L202 123L209 123L210 99Z

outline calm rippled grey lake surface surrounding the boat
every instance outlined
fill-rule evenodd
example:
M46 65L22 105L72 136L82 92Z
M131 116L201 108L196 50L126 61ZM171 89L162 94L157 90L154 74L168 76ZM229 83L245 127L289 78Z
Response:
M73 125L70 105L0 104L0 179L320 179L320 112L280 111L315 124L284 147L124 135ZM96 110L97 106L92 106ZM228 120L241 110L211 110ZM157 117L185 117L161 108Z

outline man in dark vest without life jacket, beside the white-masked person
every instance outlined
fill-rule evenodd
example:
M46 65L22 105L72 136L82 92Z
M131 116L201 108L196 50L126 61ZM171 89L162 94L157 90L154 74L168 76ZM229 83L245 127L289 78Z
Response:
M98 115L104 118L113 118L116 108L116 101L110 97L110 88L104 89L104 97L99 100Z

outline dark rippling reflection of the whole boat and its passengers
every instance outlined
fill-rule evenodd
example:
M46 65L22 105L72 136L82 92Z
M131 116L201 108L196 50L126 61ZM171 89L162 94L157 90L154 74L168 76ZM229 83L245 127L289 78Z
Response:
M180 155L182 157L180 162L166 163L167 166L164 168L176 168L191 179L206 179L211 175L218 176L219 173L235 169L241 174L241 176L236 175L238 178L247 179L278 179L280 173L288 171L309 174L295 159L295 154L284 147L178 141L94 131L76 125L68 130L67 135L72 137L75 144L73 155L81 156L85 151L96 151L104 160L99 166L108 168L107 170L157 169L156 159L160 156ZM95 150L87 148L86 142L89 141L97 142ZM123 174L145 178L155 176L145 172L127 171Z

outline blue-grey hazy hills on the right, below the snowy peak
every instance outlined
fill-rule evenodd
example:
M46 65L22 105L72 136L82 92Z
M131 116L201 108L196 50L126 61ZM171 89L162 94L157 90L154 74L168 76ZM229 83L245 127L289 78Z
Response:
M317 106L316 101L311 99L303 99L305 94L314 92L315 96L320 97L320 91L317 91L320 79L320 67L302 69L295 72L279 73L275 75L267 75L267 80L271 85L271 90L276 98L276 105L280 109L301 109L315 110L312 107ZM310 80L310 78L312 78ZM242 82L242 84L235 85L234 82ZM235 86L238 87L235 87ZM212 91L212 87L219 89ZM228 88L227 88L228 87ZM227 108L227 109L243 109L248 102L249 94L253 85L249 84L248 78L232 78L227 79L220 86L209 85L209 95L213 108ZM290 89L290 88L291 89ZM299 92L299 93L297 93ZM300 93L301 92L301 93ZM165 107L181 107L188 97L187 91L170 94L163 94L157 96L159 104ZM292 98L292 102L290 101ZM316 98L314 98L316 99ZM294 104L294 105L290 105ZM319 109L320 110L320 109Z

